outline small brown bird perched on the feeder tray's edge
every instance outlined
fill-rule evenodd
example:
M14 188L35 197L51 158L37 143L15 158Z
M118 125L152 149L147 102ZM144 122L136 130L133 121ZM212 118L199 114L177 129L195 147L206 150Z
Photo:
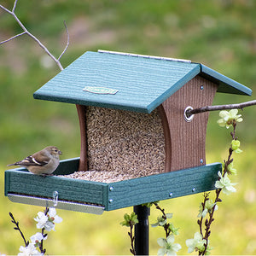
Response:
M59 166L60 154L62 153L58 148L49 146L8 166L22 166L34 174L47 176Z

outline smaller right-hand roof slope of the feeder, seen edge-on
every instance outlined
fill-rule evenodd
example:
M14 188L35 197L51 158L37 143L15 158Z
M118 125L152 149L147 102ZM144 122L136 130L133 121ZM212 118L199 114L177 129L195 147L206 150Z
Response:
M205 79L211 80L215 84L218 84L217 92L241 94L247 96L252 95L251 89L202 64L201 76ZM227 84L229 84L229 86L227 86Z

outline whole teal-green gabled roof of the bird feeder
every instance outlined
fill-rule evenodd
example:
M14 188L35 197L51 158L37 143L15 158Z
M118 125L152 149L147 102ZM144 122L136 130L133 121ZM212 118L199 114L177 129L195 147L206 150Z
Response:
M252 90L200 63L116 52L85 52L34 93L34 98L150 113L196 75L218 92Z

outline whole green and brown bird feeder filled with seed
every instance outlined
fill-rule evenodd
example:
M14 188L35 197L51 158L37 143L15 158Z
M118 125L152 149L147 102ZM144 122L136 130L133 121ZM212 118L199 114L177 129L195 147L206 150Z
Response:
M222 166L206 163L208 113L186 110L212 105L216 92L252 93L200 63L85 52L34 93L76 104L80 157L62 160L53 177L6 171L5 195L100 214L215 189Z

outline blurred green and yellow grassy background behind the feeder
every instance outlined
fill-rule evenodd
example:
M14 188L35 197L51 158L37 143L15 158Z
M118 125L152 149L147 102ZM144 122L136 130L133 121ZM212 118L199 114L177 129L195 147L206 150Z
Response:
M13 0L0 1L11 9ZM256 90L256 2L253 0L20 0L16 14L26 28L60 55L64 67L87 50L109 49L184 58L202 62ZM13 17L0 10L0 41L20 33ZM79 156L79 123L75 106L34 100L32 93L59 73L48 55L31 38L22 36L0 46L0 254L16 254L22 245L9 212L19 219L27 238L37 232L33 218L41 207L10 202L3 195L6 165L48 145L61 148L62 159ZM253 97L217 94L214 104L237 103ZM222 196L212 224L212 254L256 254L255 108L245 108L237 127L241 155L236 155L237 193ZM207 162L227 156L230 131L219 128L211 113L207 131ZM162 201L180 227L176 241L187 254L185 240L198 230L201 195ZM49 254L129 254L130 241L119 222L132 208L102 216L58 210L63 222L49 233ZM150 222L159 215L151 211ZM158 250L161 229L150 229L150 253Z

